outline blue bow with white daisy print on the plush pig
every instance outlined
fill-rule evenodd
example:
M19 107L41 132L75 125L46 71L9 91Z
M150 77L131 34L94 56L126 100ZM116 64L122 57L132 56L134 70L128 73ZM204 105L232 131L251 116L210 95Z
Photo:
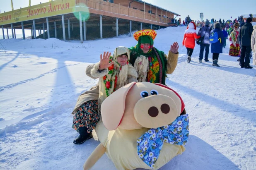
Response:
M164 142L175 145L186 145L188 134L188 114L181 115L171 124L152 128L140 136L137 139L138 155L143 162L153 169Z

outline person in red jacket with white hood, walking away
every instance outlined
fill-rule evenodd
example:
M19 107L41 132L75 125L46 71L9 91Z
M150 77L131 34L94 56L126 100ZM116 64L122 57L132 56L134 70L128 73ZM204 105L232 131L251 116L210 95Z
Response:
M196 24L194 22L190 22L188 24L188 27L185 31L182 46L185 45L185 47L188 50L188 59L187 62L189 63L191 61L191 55L193 53L193 50L195 48L195 39L200 38L200 35L196 35Z

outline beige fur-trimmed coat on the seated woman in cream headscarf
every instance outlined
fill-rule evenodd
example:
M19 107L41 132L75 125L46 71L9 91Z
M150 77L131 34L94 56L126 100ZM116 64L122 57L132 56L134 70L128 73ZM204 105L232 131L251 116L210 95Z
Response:
M98 79L99 77L103 77L106 74L108 74L108 69L104 69L101 70L99 72L99 62L93 65L89 65L86 68L86 75L91 77L92 79ZM127 84L135 81L138 82L137 80L138 74L136 72L136 70L133 68L133 66L131 64L129 64L128 67L128 77L127 77ZM118 79L116 82L116 90L119 89L119 84L120 84L120 79L119 79L119 74L118 74ZM126 85L126 84L124 84ZM77 99L77 103L75 105L75 108L72 112L72 114L75 114L77 112L77 109L84 104L87 101L91 101L91 100L98 100L99 99L99 82L96 86L92 87L89 91L85 91L85 93L82 93L78 99Z

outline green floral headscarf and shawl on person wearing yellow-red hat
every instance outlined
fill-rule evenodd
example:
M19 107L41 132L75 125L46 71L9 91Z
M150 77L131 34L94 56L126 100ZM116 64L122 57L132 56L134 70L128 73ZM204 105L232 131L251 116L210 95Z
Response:
M167 68L167 58L164 56L164 52L157 50L157 48L150 48L149 52L146 54L140 49L141 43L149 43L151 46L154 44L151 36L140 36L138 40L138 44L135 47L129 48L130 50L130 63L135 66L135 61L138 57L145 56L148 60L148 71L147 71L147 79L145 81L151 83L161 83L165 85L166 78L166 68ZM157 54L156 54L157 53ZM158 60L158 56L161 61ZM160 64L162 63L162 82L160 81ZM136 69L136 67L135 67ZM140 70L136 70L140 72Z

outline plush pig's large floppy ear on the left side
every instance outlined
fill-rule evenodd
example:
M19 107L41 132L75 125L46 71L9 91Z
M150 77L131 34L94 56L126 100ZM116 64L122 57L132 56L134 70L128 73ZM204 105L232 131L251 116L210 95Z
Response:
M136 82L118 89L101 104L102 122L108 130L115 130L121 123L126 104L126 95Z

